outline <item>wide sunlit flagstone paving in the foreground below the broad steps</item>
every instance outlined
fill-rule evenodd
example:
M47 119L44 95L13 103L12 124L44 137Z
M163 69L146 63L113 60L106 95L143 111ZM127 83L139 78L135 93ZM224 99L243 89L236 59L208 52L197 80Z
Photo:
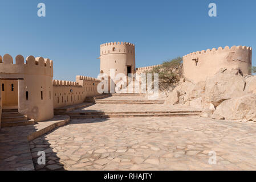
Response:
M255 139L253 122L72 119L30 147L37 170L255 170ZM36 163L40 150L46 152L46 165ZM210 151L216 152L216 164L209 164Z

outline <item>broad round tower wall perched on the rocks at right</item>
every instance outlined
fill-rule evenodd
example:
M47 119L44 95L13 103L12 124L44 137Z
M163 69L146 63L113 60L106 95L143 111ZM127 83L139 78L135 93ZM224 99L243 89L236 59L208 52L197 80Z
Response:
M184 77L194 82L204 81L221 68L240 68L244 75L250 75L251 52L251 47L226 46L189 53L183 56Z

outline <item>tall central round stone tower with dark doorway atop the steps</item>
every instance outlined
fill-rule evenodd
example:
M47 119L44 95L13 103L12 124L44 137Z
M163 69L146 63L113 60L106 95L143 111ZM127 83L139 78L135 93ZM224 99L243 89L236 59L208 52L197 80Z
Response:
M100 45L100 73L110 75L115 69L115 75L135 73L135 45L127 42L105 43ZM115 80L115 78L112 78ZM115 81L116 82L116 81Z

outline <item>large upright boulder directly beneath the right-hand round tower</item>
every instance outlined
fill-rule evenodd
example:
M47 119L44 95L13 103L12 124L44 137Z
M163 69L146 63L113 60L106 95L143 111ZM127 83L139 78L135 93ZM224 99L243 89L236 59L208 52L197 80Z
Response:
M240 69L222 68L214 77L206 78L204 103L217 107L222 101L243 96L245 83Z

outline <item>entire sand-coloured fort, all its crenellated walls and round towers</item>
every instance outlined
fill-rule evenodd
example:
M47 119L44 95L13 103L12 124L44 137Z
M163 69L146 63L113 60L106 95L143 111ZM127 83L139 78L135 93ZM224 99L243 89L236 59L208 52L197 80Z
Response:
M250 75L251 51L251 47L226 46L189 53L183 56L183 75L199 82L223 67L239 68L243 74ZM129 74L139 76L156 66L136 68L135 44L111 42L100 45L100 73L105 73L115 84L120 79L116 80L111 75L111 69L115 69L115 75L123 74L127 78ZM53 72L53 61L50 59L29 56L25 61L23 56L18 55L14 63L10 55L0 56L1 111L16 109L38 122L53 118L56 108L82 104L87 97L100 95L97 92L100 79L76 76L75 82L52 80ZM139 82L137 86L140 86Z

